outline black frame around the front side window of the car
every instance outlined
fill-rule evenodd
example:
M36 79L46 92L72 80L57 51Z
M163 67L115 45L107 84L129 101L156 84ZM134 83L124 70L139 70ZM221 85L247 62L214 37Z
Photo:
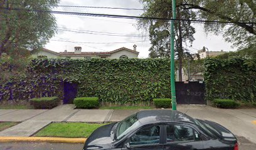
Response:
M127 136L126 140L123 143L123 148L125 147L124 145L126 143L131 142L131 137L134 136L138 131L144 128L149 128L152 126L159 126L160 127L160 133L159 133L159 143L157 144L140 144L140 145L131 145L131 148L139 148L139 147L144 147L144 146L158 146L158 145L163 145L163 134L164 134L164 126L162 124L148 124L146 126L142 126L141 128L136 129L133 131L129 136Z

